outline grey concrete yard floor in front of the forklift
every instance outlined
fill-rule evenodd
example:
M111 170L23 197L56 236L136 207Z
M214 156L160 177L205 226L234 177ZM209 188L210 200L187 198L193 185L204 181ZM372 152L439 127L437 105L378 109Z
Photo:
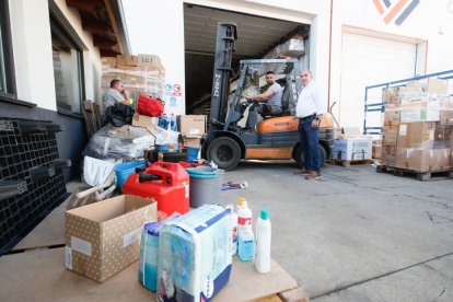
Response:
M453 179L419 182L372 166L327 165L323 178L293 175L294 163L241 163L224 181L267 206L272 258L313 301L453 301Z

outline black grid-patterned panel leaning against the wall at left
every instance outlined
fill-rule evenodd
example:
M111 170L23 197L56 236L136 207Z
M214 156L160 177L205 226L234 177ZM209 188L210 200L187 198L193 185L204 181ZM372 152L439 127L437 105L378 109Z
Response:
M50 121L0 118L0 255L66 197Z

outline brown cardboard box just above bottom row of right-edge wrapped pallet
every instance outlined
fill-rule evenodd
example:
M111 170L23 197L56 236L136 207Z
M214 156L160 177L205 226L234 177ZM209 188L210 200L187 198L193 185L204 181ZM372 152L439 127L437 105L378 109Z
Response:
M432 149L435 123L402 123L398 128L398 148Z

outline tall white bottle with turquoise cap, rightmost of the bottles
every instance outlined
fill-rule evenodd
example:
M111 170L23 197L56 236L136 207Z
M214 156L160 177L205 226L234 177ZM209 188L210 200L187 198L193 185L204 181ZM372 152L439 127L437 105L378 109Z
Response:
M256 259L255 268L258 272L270 271L270 239L271 224L266 208L260 209L260 214L256 221Z

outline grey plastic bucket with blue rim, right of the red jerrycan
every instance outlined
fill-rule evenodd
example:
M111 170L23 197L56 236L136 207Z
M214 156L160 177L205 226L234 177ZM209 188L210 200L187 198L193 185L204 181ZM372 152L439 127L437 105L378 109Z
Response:
M186 169L190 176L190 207L218 205L223 182L223 170L199 166Z

